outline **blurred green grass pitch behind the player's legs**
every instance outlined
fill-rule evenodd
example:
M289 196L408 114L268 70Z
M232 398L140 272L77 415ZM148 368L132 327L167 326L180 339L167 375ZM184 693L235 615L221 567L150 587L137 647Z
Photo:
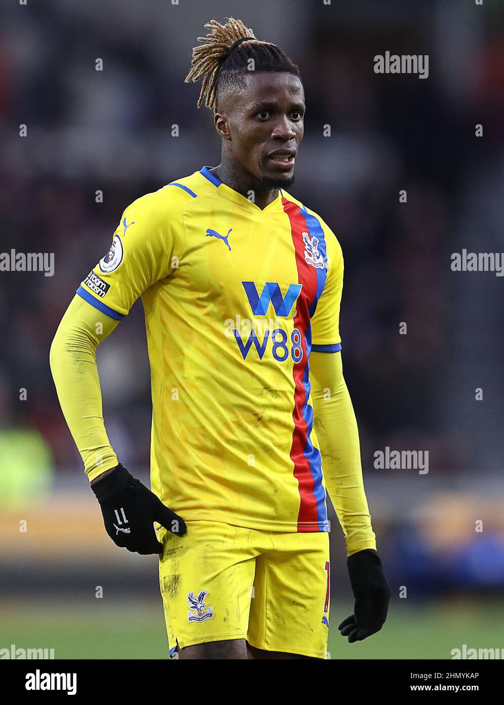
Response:
M0 648L55 650L56 658L167 658L161 602L0 601ZM382 632L348 644L337 630L351 602L332 601L331 658L451 658L451 649L504 648L502 601L398 600Z

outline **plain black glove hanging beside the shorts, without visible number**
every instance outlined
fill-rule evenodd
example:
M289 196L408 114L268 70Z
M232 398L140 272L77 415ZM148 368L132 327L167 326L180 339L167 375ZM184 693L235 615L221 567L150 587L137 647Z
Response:
M382 561L372 548L353 553L346 559L355 605L353 615L338 625L348 642L361 642L379 632L389 608L390 588L383 572Z

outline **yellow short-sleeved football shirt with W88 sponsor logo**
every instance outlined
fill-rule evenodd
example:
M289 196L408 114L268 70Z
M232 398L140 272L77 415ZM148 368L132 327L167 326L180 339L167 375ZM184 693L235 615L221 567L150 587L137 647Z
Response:
M342 284L334 233L285 190L261 210L204 166L122 214L77 293L114 319L141 296L151 486L184 520L328 530L308 360L341 350Z

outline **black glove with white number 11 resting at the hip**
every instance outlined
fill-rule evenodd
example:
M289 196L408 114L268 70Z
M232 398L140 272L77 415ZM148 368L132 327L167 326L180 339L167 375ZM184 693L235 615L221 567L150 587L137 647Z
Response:
M132 477L120 463L111 474L92 484L101 506L107 534L116 546L141 553L162 553L153 522L177 536L187 532L184 520L156 497L144 484Z

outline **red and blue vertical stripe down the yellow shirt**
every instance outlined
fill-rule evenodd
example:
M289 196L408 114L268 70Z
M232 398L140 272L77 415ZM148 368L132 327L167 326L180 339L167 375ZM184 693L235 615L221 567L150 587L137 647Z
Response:
M294 462L294 476L298 480L301 502L298 513L298 532L329 531L325 489L322 486L322 459L320 452L311 442L313 429L313 408L308 404L310 397L310 367L308 358L311 350L310 318L315 314L317 301L322 294L327 276L327 266L315 268L305 262L303 233L319 241L318 250L327 262L325 233L317 218L310 215L304 206L282 198L284 212L291 223L292 242L296 252L298 282L302 285L296 304L294 327L301 332L303 357L294 362L294 432L290 457Z

